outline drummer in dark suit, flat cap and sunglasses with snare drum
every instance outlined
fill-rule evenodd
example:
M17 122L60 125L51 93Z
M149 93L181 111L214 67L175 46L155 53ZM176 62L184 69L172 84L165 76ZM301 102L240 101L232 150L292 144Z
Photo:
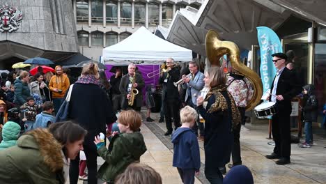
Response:
M290 145L290 114L291 99L301 91L300 82L295 72L286 68L287 56L284 53L272 54L273 63L277 68L271 88L270 101L276 102L278 112L272 116L272 135L275 141L274 151L266 155L268 159L278 158L276 164L289 164Z

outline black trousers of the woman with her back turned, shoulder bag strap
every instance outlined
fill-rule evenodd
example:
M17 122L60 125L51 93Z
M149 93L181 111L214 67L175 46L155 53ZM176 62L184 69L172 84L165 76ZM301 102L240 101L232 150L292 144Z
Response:
M96 178L96 174L98 173L98 153L96 151L95 144L91 145L84 144L84 152L86 155L86 164L88 169L88 183L96 184L98 183L98 178ZM70 171L69 178L70 184L78 183L78 175L79 175L79 155L75 160L70 161Z

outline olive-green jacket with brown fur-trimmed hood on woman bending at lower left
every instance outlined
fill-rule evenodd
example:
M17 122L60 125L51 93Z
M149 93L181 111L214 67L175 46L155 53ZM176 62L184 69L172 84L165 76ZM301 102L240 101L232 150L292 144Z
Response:
M17 146L0 151L1 183L64 183L61 148L46 129L27 132Z

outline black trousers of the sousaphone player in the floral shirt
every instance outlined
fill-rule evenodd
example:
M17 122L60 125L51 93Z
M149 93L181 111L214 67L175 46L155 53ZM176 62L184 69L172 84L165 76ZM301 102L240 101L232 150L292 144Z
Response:
M232 163L233 165L238 165L238 164L242 164L242 160L241 160L241 148L240 148L240 130L241 130L241 125L242 122L245 121L245 112L246 112L246 108L244 107L238 107L239 112L240 112L240 116L241 116L241 123L239 123L237 125L237 127L235 128L235 130L233 130L233 135L234 135L234 139L233 139L233 147L232 147Z

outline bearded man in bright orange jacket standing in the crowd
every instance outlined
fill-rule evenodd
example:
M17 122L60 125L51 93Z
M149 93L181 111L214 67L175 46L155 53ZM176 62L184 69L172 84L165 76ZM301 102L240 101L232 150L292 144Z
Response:
M54 111L58 112L65 96L65 92L69 89L70 82L67 75L63 75L61 66L56 66L56 75L52 76L49 82L49 89L52 91L52 99Z

